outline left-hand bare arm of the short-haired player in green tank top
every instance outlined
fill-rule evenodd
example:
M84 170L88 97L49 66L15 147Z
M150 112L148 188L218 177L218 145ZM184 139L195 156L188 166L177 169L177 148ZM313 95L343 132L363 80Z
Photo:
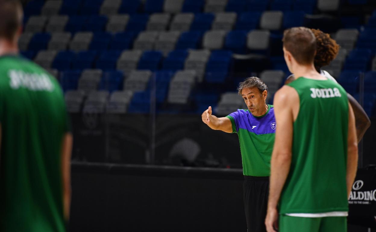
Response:
M290 86L283 86L274 95L274 115L277 129L271 156L270 190L265 225L268 232L277 227L277 204L291 165L293 143L293 105L299 105L299 96Z

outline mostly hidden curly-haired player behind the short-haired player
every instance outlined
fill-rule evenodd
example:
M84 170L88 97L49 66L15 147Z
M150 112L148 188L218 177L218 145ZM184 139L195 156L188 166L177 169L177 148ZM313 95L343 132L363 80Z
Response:
M316 37L316 56L314 60L314 65L316 71L321 73L327 79L332 80L337 83L337 80L331 76L327 71L321 70L321 67L329 65L330 62L338 55L340 45L335 42L334 39L330 38L329 34L326 34L318 29L311 29ZM285 85L291 83L295 80L294 74L291 74L285 81ZM356 126L356 137L358 138L358 143L362 140L364 133L367 131L368 127L371 126L371 121L365 113L361 105L354 99L353 96L347 93L351 107L353 108L355 115L355 126Z

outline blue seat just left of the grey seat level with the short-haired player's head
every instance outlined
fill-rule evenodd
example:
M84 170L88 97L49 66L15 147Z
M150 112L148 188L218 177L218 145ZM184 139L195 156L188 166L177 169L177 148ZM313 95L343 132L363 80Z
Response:
M247 31L233 30L227 33L224 41L224 48L232 50L234 53L245 54L247 41Z

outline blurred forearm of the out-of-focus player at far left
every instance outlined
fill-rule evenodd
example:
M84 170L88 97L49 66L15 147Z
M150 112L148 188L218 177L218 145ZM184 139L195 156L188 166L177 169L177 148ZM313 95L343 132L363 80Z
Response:
M65 133L62 139L61 148L61 171L63 182L63 206L64 206L64 218L69 220L70 202L71 202L71 152L72 152L73 136L71 133Z

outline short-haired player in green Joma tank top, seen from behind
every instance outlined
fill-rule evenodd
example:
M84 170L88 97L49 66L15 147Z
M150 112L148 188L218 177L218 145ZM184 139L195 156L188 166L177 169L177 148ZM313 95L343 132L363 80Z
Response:
M316 71L310 29L285 30L283 45L296 80L274 97L278 129L265 225L268 232L345 232L358 163L354 114L346 91Z

